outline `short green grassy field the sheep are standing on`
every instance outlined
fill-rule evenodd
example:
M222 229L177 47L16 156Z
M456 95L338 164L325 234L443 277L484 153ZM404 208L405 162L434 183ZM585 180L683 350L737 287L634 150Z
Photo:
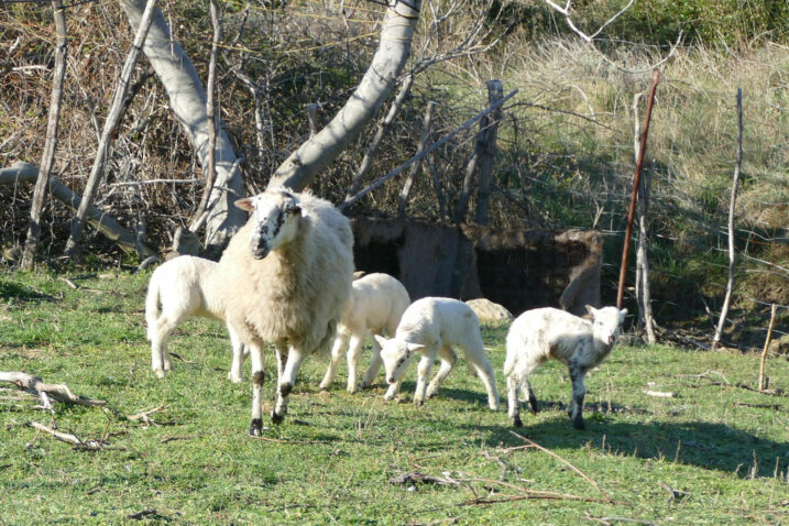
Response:
M251 388L227 380L221 325L185 324L172 346L183 360L160 381L143 331L147 276L68 277L79 288L0 274L0 370L67 383L121 415L164 409L146 425L56 403L59 430L107 446L85 451L30 427L53 417L0 385L2 525L789 523L789 399L739 385L755 384L756 355L620 347L590 374L585 431L563 413L566 371L547 364L533 382L545 410L525 413L517 432L552 454L523 448L462 364L415 407L384 403L382 377L349 395L344 368L320 393L326 360L313 359L285 423L252 439ZM505 328L483 330L501 371ZM789 362L772 358L767 372L789 392ZM412 472L447 484L391 483Z

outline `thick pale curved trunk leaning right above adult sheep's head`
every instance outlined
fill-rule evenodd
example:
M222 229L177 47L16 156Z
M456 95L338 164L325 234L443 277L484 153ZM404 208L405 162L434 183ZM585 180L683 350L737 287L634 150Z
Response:
M298 147L269 182L300 190L361 132L395 86L410 54L421 0L392 2L381 28L379 48L346 106L318 133Z

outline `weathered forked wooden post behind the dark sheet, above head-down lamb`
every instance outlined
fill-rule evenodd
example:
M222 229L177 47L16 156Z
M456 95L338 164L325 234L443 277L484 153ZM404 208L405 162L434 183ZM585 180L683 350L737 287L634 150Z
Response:
M487 81L487 105L492 106L504 97L504 87L501 80ZM491 172L496 155L496 136L498 134L498 121L502 119L502 107L496 109L480 121L480 131L474 142L474 154L465 166L463 188L458 199L458 207L454 211L454 222L465 221L469 211L469 199L474 186L474 176L479 171L478 202L475 221L479 224L487 223L487 200L491 195Z

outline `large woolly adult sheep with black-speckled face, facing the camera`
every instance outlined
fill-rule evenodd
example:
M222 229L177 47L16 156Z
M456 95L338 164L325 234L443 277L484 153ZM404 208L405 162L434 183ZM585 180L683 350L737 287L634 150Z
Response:
M275 188L235 205L252 215L230 240L219 272L228 325L252 359L249 432L260 436L263 344L273 342L277 351L271 417L278 424L302 361L335 338L351 293L353 233L337 208L307 193Z

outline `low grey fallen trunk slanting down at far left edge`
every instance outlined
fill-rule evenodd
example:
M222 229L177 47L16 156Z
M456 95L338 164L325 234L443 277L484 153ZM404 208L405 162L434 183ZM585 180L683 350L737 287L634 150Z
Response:
M18 162L10 168L0 169L0 186L17 185L19 183L34 183L37 177L39 168L32 164ZM66 185L57 180L55 177L50 177L48 179L48 190L55 199L75 210L79 208L79 204L83 201L81 197L74 194ZM95 206L88 207L87 220L96 230L118 243L123 251L128 253L136 252L138 257L141 260L151 255L156 255L156 252L142 243L138 246L136 235L124 229L114 218L108 216L99 208Z

